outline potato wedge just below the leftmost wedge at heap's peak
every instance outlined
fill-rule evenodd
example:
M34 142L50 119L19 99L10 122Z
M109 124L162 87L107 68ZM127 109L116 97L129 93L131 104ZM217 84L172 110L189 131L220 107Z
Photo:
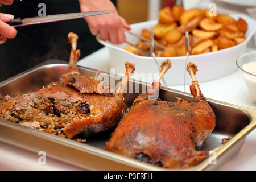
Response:
M177 23L163 24L159 23L152 28L152 32L157 38L163 38L168 31L174 30L177 27Z

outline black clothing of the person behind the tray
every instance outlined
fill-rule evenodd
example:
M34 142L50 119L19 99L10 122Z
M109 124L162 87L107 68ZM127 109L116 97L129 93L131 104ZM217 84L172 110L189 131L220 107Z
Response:
M46 4L46 15L80 11L78 0L28 0L14 1L11 6L0 7L1 13L13 14L14 18L38 16L39 3ZM68 33L79 36L77 49L81 57L101 48L95 36L90 34L84 19L17 27L16 38L0 45L0 81L26 71L49 59L68 61L71 46Z

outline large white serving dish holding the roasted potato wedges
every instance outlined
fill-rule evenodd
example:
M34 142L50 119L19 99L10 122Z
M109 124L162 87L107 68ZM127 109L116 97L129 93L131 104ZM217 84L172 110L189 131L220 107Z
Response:
M256 22L254 19L242 14L230 14L230 16L236 20L238 20L240 17L246 20L248 23L248 29L245 34L246 40L241 44L227 49L222 49L217 52L189 56L188 61L193 61L198 66L199 72L197 72L197 80L200 82L220 78L236 71L236 59L238 56L245 53L247 43L255 33ZM147 22L131 24L131 32L134 32L137 35L141 35L143 28L151 30L151 28L154 27L157 23L158 20L151 20ZM127 33L125 34L126 39L129 40L129 42L134 44L138 42L139 39L135 36L129 35ZM108 47L110 68L115 69L115 74L125 73L125 68L123 67L125 61L135 63L135 73L138 73L139 75L146 73L148 77L149 74L153 73L154 75L157 75L159 73L158 67L156 66L156 63L152 57L138 56L131 52L125 51L123 48L127 47L126 43L118 45L112 44L109 41L100 40L99 36L97 36L97 40L104 46ZM167 85L170 86L184 84L186 57L156 57L159 65L165 59L170 59L172 63L172 68L166 73L166 75L164 75ZM186 75L186 83L189 84L191 82L191 78L187 73ZM152 82L154 78L155 77L150 78L149 76L146 81ZM135 77L135 80L140 79L141 78Z

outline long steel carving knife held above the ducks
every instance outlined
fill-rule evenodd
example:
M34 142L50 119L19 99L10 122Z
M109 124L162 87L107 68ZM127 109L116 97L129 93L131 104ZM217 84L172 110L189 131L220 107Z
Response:
M88 11L88 12L48 15L48 16L40 16L40 17L24 18L24 19L16 18L11 20L11 22L8 22L8 24L10 24L13 27L22 27L22 26L30 26L33 24L60 22L64 20L84 18L87 16L102 15L102 14L114 13L114 12L115 11Z

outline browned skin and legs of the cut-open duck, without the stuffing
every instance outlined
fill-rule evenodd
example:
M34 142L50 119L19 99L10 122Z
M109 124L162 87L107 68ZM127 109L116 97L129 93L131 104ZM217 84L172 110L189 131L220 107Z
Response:
M84 130L93 130L93 133L98 133L109 129L119 122L126 113L126 104L123 101L122 92L114 94L100 94L97 88L98 85L103 85L93 78L80 75L79 69L76 66L79 59L80 51L76 50L77 35L70 33L68 35L69 42L72 44L71 56L69 61L68 73L59 82L52 82L46 88L36 92L23 94L21 96L11 98L9 101L0 105L0 113L5 110L13 111L20 107L29 105L35 97L47 97L54 100L67 100L75 103L81 101L89 105L90 113L84 119L76 119L67 127L64 127L64 135L68 138L73 138ZM127 75L133 73L134 64L126 62ZM70 83L65 82L65 78L76 78L77 80L87 80L85 84L76 85L76 81ZM129 80L129 77L123 79L121 86L124 88ZM70 85L70 86L69 86ZM101 88L109 89L103 85ZM81 91L80 91L81 90ZM30 126L30 125L28 125ZM47 133L53 133L54 129L44 129Z

